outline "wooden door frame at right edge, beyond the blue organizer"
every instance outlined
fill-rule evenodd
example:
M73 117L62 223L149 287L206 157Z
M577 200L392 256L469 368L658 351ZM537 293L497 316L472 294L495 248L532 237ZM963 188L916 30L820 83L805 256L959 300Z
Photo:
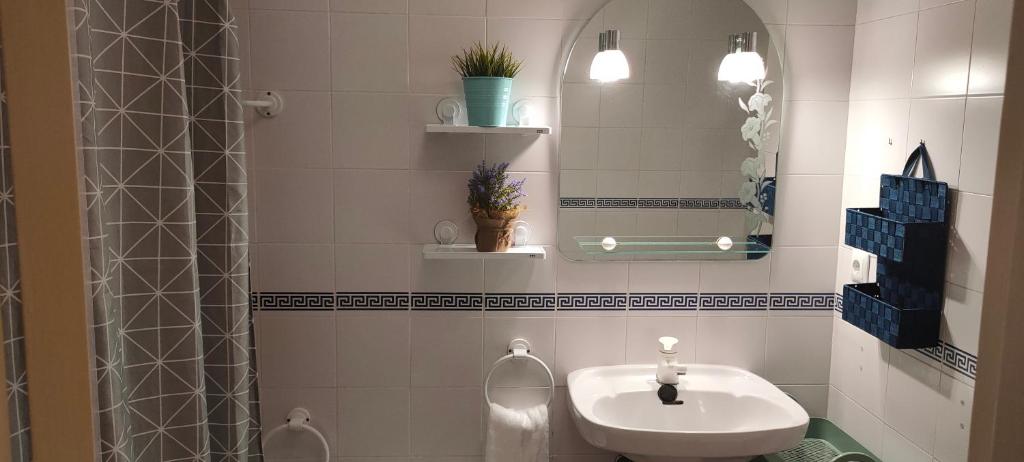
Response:
M1024 4L1014 6L996 161L970 460L1024 454Z

